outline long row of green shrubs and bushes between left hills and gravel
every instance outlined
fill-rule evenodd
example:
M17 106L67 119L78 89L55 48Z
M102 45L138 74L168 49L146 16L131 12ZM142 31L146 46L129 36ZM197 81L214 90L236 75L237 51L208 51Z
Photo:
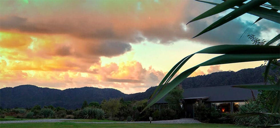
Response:
M21 119L39 119L39 118L63 118L63 119L108 119L113 121L149 121L153 120L177 119L173 110L163 110L159 113L157 110L145 110L140 113L147 105L147 100L125 101L123 98L103 100L87 103L84 101L81 108L67 110L62 107L44 106L41 108L35 105L32 108L1 108L0 116L13 116Z

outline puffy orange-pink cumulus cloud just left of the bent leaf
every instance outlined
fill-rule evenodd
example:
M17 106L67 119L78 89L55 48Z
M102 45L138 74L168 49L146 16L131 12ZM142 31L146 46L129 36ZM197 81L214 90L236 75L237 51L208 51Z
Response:
M101 65L92 65L91 71L96 71L100 81L143 83L146 86L156 86L163 79L162 71L155 71L152 67L145 69L137 61Z

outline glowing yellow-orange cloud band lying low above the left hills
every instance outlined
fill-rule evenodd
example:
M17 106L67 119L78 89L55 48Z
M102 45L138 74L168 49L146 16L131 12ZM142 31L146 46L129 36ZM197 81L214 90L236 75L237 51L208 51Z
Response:
M157 86L165 75L162 71L156 71L152 67L145 69L137 61L127 61L120 64L110 63L105 66L101 66L101 63L95 63L90 67L92 71L88 72L81 72L71 69L71 67L66 67L63 70L62 65L67 65L63 64L65 61L45 62L49 63L51 67L46 67L44 63L36 64L36 61L28 62L10 61L7 64L2 59L0 87L13 87L21 84L57 89L93 86L116 88L125 93L136 93L145 91L151 86Z

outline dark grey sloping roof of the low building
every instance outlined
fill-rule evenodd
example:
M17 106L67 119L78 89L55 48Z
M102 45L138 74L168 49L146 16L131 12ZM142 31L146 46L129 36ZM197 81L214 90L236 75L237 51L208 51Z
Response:
M206 100L208 102L238 101L249 100L252 98L252 93L250 89L234 88L231 86L233 85L185 89L183 93L183 98L210 97ZM257 96L257 94L259 94L258 90L252 91L255 97ZM161 98L157 103L167 103L164 99L165 96Z

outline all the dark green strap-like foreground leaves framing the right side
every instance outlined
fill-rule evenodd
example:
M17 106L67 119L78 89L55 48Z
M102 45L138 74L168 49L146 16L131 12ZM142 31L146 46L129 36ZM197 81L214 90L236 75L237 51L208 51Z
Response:
M197 0L199 1L199 0ZM280 22L280 15L277 11L279 11L279 0L252 0L247 3L243 3L244 1L224 1L221 4L218 3L211 3L206 1L200 1L204 3L209 3L216 5L212 9L206 11L205 13L197 16L190 22L200 20L206 18L211 15L215 15L217 13L221 13L227 9L234 9L231 13L223 16L221 19L217 20L207 28L205 28L202 32L197 34L195 37L213 30L235 18L241 16L245 13L249 13L251 15L259 16L256 22L261 19L267 19L276 23ZM266 4L269 3L269 4ZM238 7L238 8L237 8ZM189 22L189 23L190 23ZM194 38L195 38L194 37ZM158 100L160 100L163 96L165 96L169 91L171 91L175 86L177 86L180 82L182 82L185 78L187 78L191 73L193 73L197 68L200 66L208 66L208 65L218 65L218 64L227 64L227 63L238 63L238 62L249 62L249 61L260 61L260 60L270 60L267 65L267 70L265 72L265 81L268 74L268 68L271 64L271 60L273 59L280 59L280 46L269 46L279 40L279 34L267 42L263 46L257 45L220 45L220 46L213 46L209 48L205 48L201 51L196 53L208 53L208 54L224 54L208 61L205 61L199 65L196 65L178 75L172 81L171 79L174 75L179 71L179 69L196 53L191 54L181 61L179 61L163 78L160 82L159 86L156 88L155 92L151 96L148 101L148 105L144 108L147 109L149 106L155 104ZM273 86L239 86L243 88L251 88L251 89L263 89L263 90L275 90L279 91L280 85L276 84ZM275 103L276 107L279 108L279 100ZM279 109L278 109L279 110ZM276 114L279 115L279 112Z

